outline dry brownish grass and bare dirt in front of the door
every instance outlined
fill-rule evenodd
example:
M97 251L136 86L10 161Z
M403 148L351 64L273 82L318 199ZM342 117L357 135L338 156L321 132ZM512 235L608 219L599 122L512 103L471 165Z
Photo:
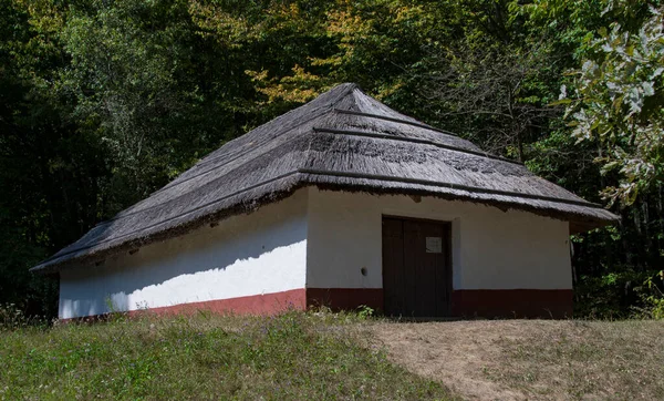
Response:
M369 326L390 358L468 399L664 399L664 322Z

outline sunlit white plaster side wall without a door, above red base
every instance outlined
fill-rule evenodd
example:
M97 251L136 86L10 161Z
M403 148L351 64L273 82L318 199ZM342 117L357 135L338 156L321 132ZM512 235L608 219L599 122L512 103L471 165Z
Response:
M308 189L250 215L63 270L60 318L304 288Z

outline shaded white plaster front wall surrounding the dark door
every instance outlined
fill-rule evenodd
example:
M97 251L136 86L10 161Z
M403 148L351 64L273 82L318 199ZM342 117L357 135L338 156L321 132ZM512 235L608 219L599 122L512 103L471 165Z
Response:
M309 288L382 288L383 215L452 222L454 289L572 288L567 222L433 197L309 191Z

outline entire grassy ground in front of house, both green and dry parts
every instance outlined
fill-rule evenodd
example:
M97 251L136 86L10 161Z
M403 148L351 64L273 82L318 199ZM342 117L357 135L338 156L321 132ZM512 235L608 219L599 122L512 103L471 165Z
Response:
M0 400L664 399L664 322L145 316L0 331Z

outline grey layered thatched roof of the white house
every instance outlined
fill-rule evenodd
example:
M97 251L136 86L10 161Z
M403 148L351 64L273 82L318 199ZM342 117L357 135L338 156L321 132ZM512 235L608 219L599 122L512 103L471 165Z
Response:
M575 229L616 219L522 164L397 113L346 83L228 142L33 270L98 261L304 186L463 199L569 220Z

